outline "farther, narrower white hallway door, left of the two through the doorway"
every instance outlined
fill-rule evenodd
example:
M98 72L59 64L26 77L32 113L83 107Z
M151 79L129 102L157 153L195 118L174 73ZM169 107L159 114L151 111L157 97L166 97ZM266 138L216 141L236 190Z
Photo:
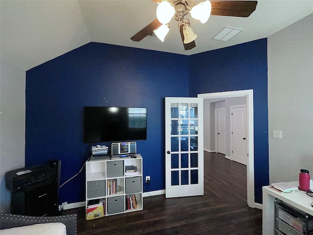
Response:
M225 108L216 109L217 152L226 154Z

